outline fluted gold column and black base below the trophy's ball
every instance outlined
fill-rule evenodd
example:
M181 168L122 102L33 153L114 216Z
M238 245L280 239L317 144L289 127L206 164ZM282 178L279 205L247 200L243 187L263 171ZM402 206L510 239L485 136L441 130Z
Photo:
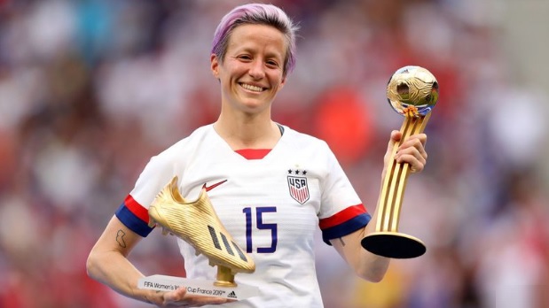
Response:
M411 135L421 134L427 125L431 113L425 117L404 118L400 128L403 136L391 150L389 161L392 162L385 174L380 192L380 204L375 232L362 240L363 247L375 254L387 258L416 258L425 253L425 245L413 236L398 232L404 189L410 173L410 164L396 163L398 147Z

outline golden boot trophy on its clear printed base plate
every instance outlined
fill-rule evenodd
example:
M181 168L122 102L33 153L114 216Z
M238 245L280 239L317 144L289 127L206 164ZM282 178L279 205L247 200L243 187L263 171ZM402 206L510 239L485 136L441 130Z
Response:
M255 262L225 229L206 189L200 191L200 196L195 201L188 202L181 196L177 177L174 177L156 196L148 212L150 227L158 225L162 227L163 235L176 235L191 244L197 255L204 254L210 266L217 266L217 280L208 286L204 283L206 281L154 275L147 277L150 278L148 281L141 281L142 287L154 289L155 283L157 286L176 283L177 286L187 287L187 291L197 290L196 294L199 295L231 299L254 296L256 288L237 285L234 276L236 273L254 273Z

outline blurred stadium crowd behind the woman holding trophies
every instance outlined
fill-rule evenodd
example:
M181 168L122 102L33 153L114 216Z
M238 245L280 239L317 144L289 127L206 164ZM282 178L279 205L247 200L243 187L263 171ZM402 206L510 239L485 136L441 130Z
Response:
M91 281L85 260L149 158L216 120L210 43L243 3L0 0L0 307L149 306ZM549 2L271 3L301 25L273 117L329 142L371 212L403 121L388 78L420 65L440 83L400 225L427 253L373 284L318 240L325 306L549 307ZM184 275L160 234L130 259Z

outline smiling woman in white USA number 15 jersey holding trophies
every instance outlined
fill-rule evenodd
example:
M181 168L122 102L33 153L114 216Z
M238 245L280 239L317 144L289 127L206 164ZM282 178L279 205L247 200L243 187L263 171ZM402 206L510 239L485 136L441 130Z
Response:
M372 216L328 145L271 120L271 104L294 68L295 31L286 13L271 4L241 5L225 15L210 57L211 72L221 86L219 118L151 159L91 250L91 277L161 307L321 307L313 254L319 226L325 243L333 245L358 276L368 281L383 278L389 259L360 245L373 232L376 215L368 223ZM388 152L400 137L397 131L391 133ZM426 140L423 134L408 138L397 162L422 171ZM386 161L383 173L387 166ZM174 177L181 195L189 199L208 188L224 227L255 261L255 273L240 273L237 280L259 287L260 296L227 302L192 296L184 288L137 289L143 274L126 257L151 232L147 209ZM178 243L187 276L215 280L216 269L208 266L208 258L195 256L189 243Z

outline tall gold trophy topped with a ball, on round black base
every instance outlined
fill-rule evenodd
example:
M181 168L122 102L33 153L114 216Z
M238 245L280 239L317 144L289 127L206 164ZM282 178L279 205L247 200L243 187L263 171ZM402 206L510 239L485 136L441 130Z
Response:
M396 71L387 85L387 98L392 108L404 116L400 128L402 138L389 157L387 173L380 192L375 231L362 239L362 246L376 255L387 258L416 258L427 250L420 239L398 232L404 189L410 165L396 163L398 147L411 135L421 134L438 100L435 76L420 66L408 65Z

